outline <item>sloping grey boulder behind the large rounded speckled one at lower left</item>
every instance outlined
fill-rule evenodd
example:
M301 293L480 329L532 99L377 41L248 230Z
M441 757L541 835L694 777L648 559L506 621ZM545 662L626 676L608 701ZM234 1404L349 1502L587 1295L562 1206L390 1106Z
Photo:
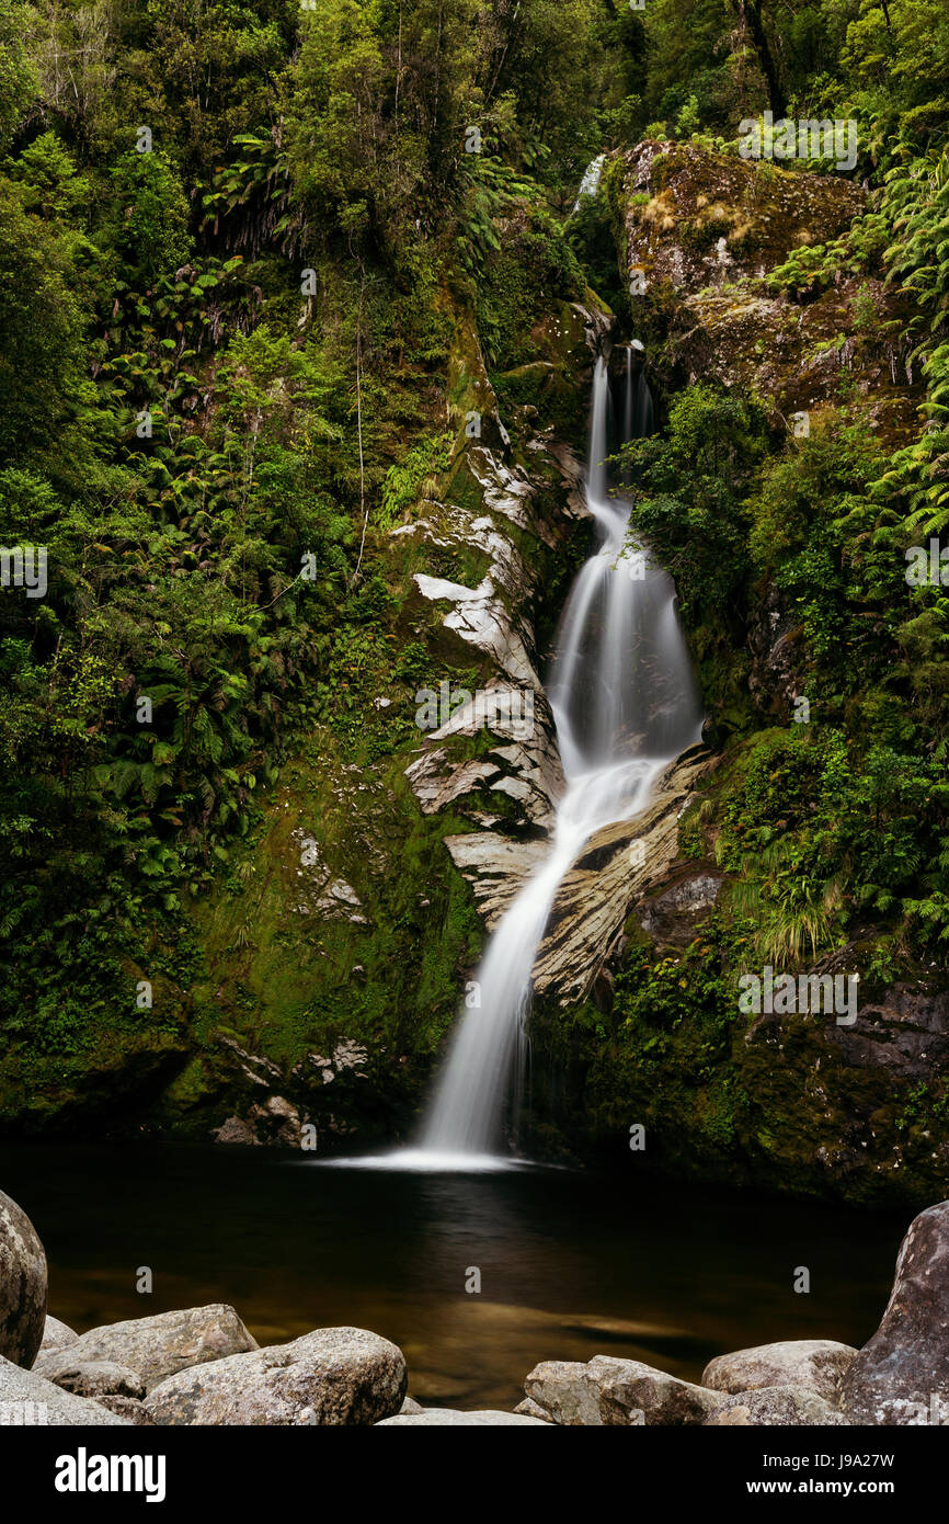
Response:
M126 1366L151 1391L157 1382L189 1366L218 1361L225 1355L254 1350L257 1343L244 1327L233 1308L212 1303L207 1308L186 1308L181 1312L157 1312L149 1318L107 1323L90 1329L70 1344L69 1355L76 1364L114 1361Z

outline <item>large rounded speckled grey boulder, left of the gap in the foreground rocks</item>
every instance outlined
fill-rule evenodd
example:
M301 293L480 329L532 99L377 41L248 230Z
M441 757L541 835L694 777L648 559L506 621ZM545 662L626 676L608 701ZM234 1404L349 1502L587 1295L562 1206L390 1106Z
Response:
M378 1423L398 1414L407 1379L402 1352L378 1334L317 1329L183 1370L145 1407L157 1423Z

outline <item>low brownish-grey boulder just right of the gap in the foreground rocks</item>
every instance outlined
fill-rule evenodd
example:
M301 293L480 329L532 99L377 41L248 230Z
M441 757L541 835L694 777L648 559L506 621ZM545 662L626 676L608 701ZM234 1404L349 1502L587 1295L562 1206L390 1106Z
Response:
M553 1423L570 1426L702 1423L725 1401L638 1359L611 1355L597 1355L585 1366L544 1361L527 1376L524 1391Z

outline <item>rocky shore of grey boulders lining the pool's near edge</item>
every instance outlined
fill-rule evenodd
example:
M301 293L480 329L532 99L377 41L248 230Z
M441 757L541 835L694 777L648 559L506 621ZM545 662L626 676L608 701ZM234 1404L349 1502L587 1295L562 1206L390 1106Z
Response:
M883 1320L861 1350L833 1340L763 1344L716 1356L698 1384L611 1355L548 1359L526 1378L513 1413L423 1408L407 1396L402 1350L367 1329L314 1329L260 1349L224 1305L87 1334L46 1317L43 1329L43 1247L15 1202L0 1195L0 1209L8 1423L949 1425L949 1201L909 1225Z

